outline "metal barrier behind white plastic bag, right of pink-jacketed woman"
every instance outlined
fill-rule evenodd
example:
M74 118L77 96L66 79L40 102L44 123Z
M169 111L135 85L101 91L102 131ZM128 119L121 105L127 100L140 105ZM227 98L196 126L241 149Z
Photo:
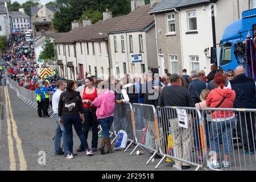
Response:
M132 117L132 106L129 102L123 104L115 104L114 110L114 134L115 138L112 143L118 137L118 131L124 130L127 133L127 140L130 144L126 147L125 152L134 143L134 131L133 131L133 117Z

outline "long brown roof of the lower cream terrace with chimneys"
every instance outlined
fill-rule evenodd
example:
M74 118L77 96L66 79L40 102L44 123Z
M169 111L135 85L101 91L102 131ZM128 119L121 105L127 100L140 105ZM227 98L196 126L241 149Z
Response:
M65 33L64 36L57 39L56 43L73 43L75 41L93 41L105 39L106 35L119 31L144 30L154 23L154 16L148 14L150 5L139 7L135 11L105 21L100 20L95 24L86 27L77 27Z

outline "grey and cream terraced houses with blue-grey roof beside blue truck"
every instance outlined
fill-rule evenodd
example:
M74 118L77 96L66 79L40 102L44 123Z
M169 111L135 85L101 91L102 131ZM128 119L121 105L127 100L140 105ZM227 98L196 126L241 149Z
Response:
M249 10L250 3L253 5L249 0L161 1L150 11L155 15L160 74L164 69L181 73L183 68L209 73L210 47L218 48L213 42L220 42L225 27Z

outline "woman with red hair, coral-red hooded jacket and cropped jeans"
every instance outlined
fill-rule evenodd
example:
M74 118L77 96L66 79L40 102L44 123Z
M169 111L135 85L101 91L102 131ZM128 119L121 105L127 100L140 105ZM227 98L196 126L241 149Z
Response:
M206 103L208 107L233 108L233 102L236 98L234 90L224 88L226 78L223 75L217 74L214 77L214 82L217 85L216 89L210 91ZM218 153L220 153L220 139L222 139L224 160L222 167L228 168L229 154L233 153L232 147L232 129L236 125L236 120L232 111L211 111L212 122L209 126L210 131L210 151L213 151L212 168L219 168Z

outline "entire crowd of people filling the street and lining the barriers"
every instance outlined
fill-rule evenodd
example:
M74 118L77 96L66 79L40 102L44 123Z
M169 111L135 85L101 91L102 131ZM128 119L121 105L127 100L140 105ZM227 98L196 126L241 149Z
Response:
M130 102L155 107L197 107L199 110L207 107L256 108L255 81L253 78L246 77L245 69L241 66L234 71L225 72L224 69L217 69L217 66L213 64L208 76L203 70L192 71L190 75L187 75L187 70L183 69L182 75L167 73L162 77L146 71L143 83L142 78L138 76L131 79L131 76L127 75L118 81L114 76L106 80L92 76L90 73L86 73L85 79L82 80L77 77L76 81L65 80L57 76L41 78L36 72L39 65L36 64L32 53L33 47L24 42L24 34L13 33L11 40L14 42L12 47L10 44L12 51L3 55L8 76L18 81L20 86L35 91L39 117L49 117L48 107L51 103L56 121L55 155L64 154L67 159L72 159L77 155L73 152L72 126L75 127L81 141L77 152L86 151L87 155L93 155L93 152L98 150L99 125L104 135L99 148L101 154L113 152L109 130L114 120L115 104ZM30 50L24 50L24 46L30 47ZM2 73L0 80L6 80L5 76L6 74ZM213 168L220 167L218 138L222 133L226 135L222 136L225 158L221 165L225 168L230 166L229 154L233 152L232 129L236 123L238 130L242 131L238 135L243 139L245 154L254 154L254 115L250 113L243 115L240 120L241 122L236 121L233 112L230 111L212 113L214 122L212 122L213 129L209 130L209 146L216 151L210 163ZM193 134L188 130L186 135L177 136L179 125L176 118L170 119L170 125L174 136L176 157L189 160L189 153L183 151L182 145L188 147ZM92 127L91 147L87 142L90 127ZM60 147L61 137L64 151ZM202 154L199 158L203 160ZM188 169L190 166L188 163L175 160L174 168L181 170Z

